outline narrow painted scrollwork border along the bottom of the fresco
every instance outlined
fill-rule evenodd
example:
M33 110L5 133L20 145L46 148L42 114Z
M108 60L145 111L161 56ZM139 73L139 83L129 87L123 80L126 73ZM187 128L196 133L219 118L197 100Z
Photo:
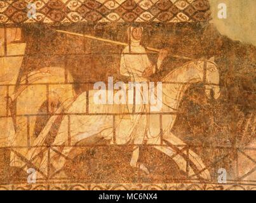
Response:
M256 190L256 185L208 183L36 183L0 185L0 190Z

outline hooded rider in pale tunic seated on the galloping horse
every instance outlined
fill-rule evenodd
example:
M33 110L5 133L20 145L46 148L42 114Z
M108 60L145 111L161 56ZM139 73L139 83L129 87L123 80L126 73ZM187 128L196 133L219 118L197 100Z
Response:
M121 55L120 74L130 77L130 80L133 82L149 82L148 77L150 77L152 74L155 74L157 70L161 70L161 64L165 57L167 56L166 49L162 49L159 52L157 63L152 65L151 61L147 56L147 52L144 46L140 44L142 41L142 34L143 27L129 27L128 39L130 44L128 44L128 46L126 46L125 49L123 49L123 53ZM151 93L151 91L149 92ZM144 96L145 95L142 93L142 99ZM138 112L149 112L149 105L147 104L140 104L140 106L137 108L140 108ZM141 115L131 115L130 119L132 122L138 123L143 121L141 117ZM149 117L146 117L147 118L145 120L147 122ZM123 119L122 122L125 122L125 119ZM148 127L148 122L146 126ZM140 136L138 134L140 134ZM147 128L145 128L144 132L138 134L135 135L133 144L141 145L145 140L145 137L147 136ZM144 171L145 173L149 173L147 167L145 167L144 164L138 163L138 157L139 147L135 146L133 148L133 154L131 156L130 165L142 169L142 171Z

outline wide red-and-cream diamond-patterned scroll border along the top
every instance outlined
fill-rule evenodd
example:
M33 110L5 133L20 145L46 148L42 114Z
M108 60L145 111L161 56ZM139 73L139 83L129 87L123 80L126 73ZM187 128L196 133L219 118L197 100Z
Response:
M29 3L34 3L32 15ZM30 18L28 16L30 13ZM32 17L31 17L32 16ZM0 24L76 22L208 22L208 0L0 1Z

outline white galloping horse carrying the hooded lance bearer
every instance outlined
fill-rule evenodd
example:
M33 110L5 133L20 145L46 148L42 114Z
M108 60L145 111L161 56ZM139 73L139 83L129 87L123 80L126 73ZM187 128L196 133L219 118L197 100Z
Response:
M213 91L214 98L219 98L219 71L214 58L205 62L198 60L186 63L170 72L163 78L162 109L147 115L138 112L136 115L131 115L132 119L105 115L104 113L116 112L118 108L115 105L95 105L93 103L93 91L89 92L89 104L86 105L86 93L83 93L76 99L65 103L66 114L61 114L63 112L62 107L55 112L57 115L50 118L46 127L32 144L35 147L30 148L25 155L27 161L25 161L24 166L38 169L43 176L46 176L49 170L53 174L57 174L61 172L67 159L72 160L81 153L79 149L83 148L77 147L79 145L93 144L95 146L97 141L102 139L111 140L111 143L121 145L128 142L141 145L145 142L172 157L180 170L187 172L189 176L209 180L210 173L199 155L192 150L185 150L185 143L171 133L177 117L175 113L178 112L185 90L196 82L206 82L206 95L210 98L211 91ZM89 115L85 114L88 108L89 112L87 113ZM54 126L58 121L62 122L57 134L53 135L52 131L56 131ZM147 133L146 136L145 132ZM47 151L49 146L51 150ZM50 162L48 160L49 155ZM144 164L138 164L138 150L136 148L133 151L130 164L139 167L146 173L148 172Z

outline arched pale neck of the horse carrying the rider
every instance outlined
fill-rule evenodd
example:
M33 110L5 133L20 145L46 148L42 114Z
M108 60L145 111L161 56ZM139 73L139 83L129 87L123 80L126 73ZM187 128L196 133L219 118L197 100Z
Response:
M201 81L200 74L195 63L188 63L167 75L164 81L170 83L163 84L163 111L177 110L189 86Z

